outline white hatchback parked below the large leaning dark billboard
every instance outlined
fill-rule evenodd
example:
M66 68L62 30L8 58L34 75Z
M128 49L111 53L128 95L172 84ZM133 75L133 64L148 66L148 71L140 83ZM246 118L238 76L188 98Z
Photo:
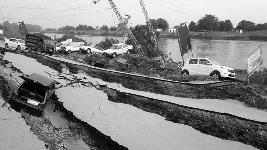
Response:
M235 78L235 71L232 68L221 65L209 58L188 59L183 68L183 75L210 75L217 79Z

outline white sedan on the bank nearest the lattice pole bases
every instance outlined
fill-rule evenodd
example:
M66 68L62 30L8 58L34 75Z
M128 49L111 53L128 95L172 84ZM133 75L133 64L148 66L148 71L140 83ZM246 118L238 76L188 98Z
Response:
M103 51L103 55L107 57L117 57L117 55L124 54L124 53L131 53L131 49L133 49L132 45L127 45L124 43L119 43L112 45L109 49Z

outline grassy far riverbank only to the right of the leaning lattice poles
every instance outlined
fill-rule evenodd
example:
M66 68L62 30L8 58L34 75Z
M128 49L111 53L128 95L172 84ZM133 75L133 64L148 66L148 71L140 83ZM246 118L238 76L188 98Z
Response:
M243 41L267 41L267 30L252 31L244 33L234 32L192 32L192 39L211 39L211 40L243 40ZM177 38L176 33L161 32L159 38Z

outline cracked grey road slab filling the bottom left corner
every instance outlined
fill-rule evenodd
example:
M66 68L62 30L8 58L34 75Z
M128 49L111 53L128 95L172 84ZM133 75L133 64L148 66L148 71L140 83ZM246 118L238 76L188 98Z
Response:
M4 100L0 99L0 104ZM0 107L0 149L47 150L45 143L30 131L19 112Z

